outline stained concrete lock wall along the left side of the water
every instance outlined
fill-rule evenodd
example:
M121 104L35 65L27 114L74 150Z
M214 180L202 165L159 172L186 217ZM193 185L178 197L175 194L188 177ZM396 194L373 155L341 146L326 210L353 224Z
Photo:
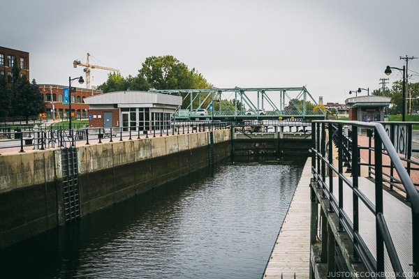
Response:
M209 133L77 147L81 216L210 164ZM214 130L216 160L230 130ZM64 225L61 150L0 156L0 248Z

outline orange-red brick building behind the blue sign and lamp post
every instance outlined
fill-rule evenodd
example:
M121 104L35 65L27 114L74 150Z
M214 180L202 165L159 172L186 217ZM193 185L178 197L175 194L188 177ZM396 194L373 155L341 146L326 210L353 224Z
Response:
M47 107L47 119L68 119L68 105L64 105L64 88L68 86L56 84L38 84L39 91L43 93L45 106ZM84 89L71 86L75 91L71 92L71 115L75 119L86 119L89 105L84 103L84 98L96 96L101 90Z

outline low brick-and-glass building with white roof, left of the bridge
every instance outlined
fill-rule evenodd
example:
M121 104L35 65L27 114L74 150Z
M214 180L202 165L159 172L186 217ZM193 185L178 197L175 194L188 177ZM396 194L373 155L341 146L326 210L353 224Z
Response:
M170 117L182 105L182 96L145 91L117 91L84 98L89 104L89 126L122 130L170 127Z

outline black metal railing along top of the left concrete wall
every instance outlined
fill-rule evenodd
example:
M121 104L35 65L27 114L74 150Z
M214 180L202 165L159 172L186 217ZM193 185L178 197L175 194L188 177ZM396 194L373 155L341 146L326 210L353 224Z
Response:
M1 149L20 148L24 152L25 146L32 149L65 148L76 144L90 144L89 140L98 143L115 140L133 140L149 137L163 137L168 135L182 135L189 133L221 130L229 128L228 123L221 121L182 121L156 126L110 127L110 128L73 128L72 130L32 126L30 130L13 130L0 132Z

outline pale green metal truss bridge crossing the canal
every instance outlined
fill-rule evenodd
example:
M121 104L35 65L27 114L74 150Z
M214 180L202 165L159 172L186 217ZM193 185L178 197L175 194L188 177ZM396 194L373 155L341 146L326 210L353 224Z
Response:
M305 86L149 89L149 92L182 96L177 119L324 119L327 114ZM207 114L200 115L197 111L200 109L207 110Z

